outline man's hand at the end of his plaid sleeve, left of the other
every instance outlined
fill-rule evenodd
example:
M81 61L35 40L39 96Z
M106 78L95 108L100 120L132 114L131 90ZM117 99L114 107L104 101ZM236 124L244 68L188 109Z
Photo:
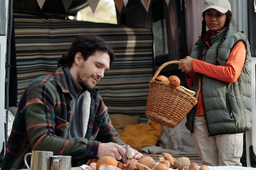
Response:
M126 152L124 147L113 142L100 143L97 157L100 159L104 156L112 156L117 160L121 160Z

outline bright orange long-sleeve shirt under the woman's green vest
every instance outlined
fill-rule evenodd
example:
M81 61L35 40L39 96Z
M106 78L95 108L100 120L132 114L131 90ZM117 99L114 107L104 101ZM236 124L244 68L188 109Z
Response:
M209 46L209 41L207 40L208 38L206 37L205 42ZM216 66L214 64L209 64L207 62L204 62L205 55L203 56L202 61L193 59L192 66L193 66L194 72L202 73L204 75L213 77L223 82L233 83L238 79L242 71L242 68L245 62L245 55L246 55L245 44L243 42L238 42L230 52L226 66ZM193 76L190 78L187 78L187 84L191 89L193 86ZM196 115L197 116L204 115L201 92L198 98Z

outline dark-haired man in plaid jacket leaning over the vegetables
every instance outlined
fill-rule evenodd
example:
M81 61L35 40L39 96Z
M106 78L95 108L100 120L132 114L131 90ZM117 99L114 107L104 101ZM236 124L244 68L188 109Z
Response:
M124 142L113 128L96 83L114 61L97 35L80 34L58 69L34 79L20 98L2 169L25 168L31 150L71 155L72 166L109 155L126 163ZM133 159L140 159L137 150Z

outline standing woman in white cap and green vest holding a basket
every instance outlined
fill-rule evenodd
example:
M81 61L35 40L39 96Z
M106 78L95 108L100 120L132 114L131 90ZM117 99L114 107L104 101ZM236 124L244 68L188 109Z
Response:
M229 30L228 0L206 0L202 16L200 39L179 63L189 88L201 87L186 127L202 164L242 166L243 133L252 128L250 45L243 33Z

